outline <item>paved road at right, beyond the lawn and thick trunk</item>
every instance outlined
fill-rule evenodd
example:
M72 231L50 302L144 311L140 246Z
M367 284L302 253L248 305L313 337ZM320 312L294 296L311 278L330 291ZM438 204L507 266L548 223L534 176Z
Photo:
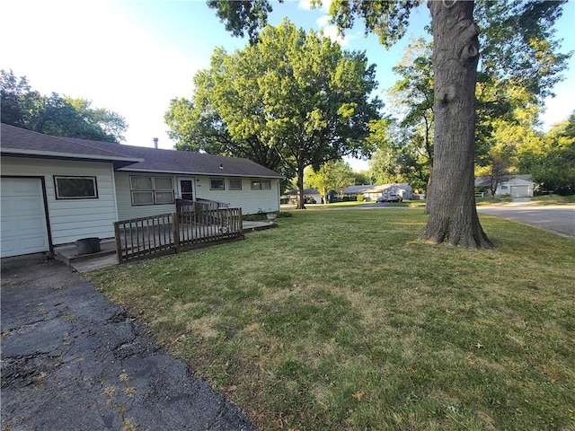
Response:
M523 224L561 233L575 239L575 205L533 205L517 202L477 207L481 214L500 216Z

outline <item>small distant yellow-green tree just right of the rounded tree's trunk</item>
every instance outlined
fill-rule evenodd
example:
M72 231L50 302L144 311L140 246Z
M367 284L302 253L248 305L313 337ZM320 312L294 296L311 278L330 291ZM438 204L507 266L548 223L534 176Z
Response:
M323 163L316 171L311 166L305 169L305 185L318 189L323 196L323 202L329 202L328 194L331 190L343 191L354 183L354 172L348 163L342 160Z

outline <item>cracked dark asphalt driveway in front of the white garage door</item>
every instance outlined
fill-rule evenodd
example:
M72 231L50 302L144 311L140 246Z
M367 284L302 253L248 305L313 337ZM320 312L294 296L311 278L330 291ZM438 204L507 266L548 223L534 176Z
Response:
M252 430L84 277L2 260L2 429Z

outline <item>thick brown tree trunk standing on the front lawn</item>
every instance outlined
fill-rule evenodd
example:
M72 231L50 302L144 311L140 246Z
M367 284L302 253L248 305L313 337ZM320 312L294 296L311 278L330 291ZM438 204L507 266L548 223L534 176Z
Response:
M479 28L473 2L429 1L433 25L435 138L429 219L420 239L491 247L473 189Z

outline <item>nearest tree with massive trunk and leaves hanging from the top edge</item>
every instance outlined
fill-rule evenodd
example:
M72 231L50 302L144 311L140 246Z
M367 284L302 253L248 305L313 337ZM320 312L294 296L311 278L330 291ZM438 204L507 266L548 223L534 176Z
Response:
M265 0L260 0L258 3L268 4ZM544 34L544 25L553 22L553 19L561 13L562 4L557 3L557 7L545 7L540 6L541 3L544 2L515 2L515 9L509 9L511 12L519 13L519 21L509 18L506 25L526 24L526 28L535 29L535 31L519 31L521 36L513 39L514 42L526 42L535 48L526 51L528 55L534 52L549 52L546 48L553 48L548 42L533 40L531 36ZM367 32L376 33L381 43L389 46L403 36L411 8L417 4L419 2L335 0L332 2L330 12L333 22L341 31L352 28L355 18L359 17L363 20ZM485 4L489 6L491 3ZM212 4L212 7L218 6ZM474 90L477 82L480 33L479 27L473 22L474 4L445 0L429 2L428 7L434 40L434 161L428 207L429 219L420 238L428 242L447 241L452 245L466 247L491 247L491 242L479 223L473 192ZM543 20L534 19L542 12ZM503 16L510 17L512 14ZM235 28L245 28L247 24L241 17L234 22L228 19L227 22L232 23ZM533 23L535 25L527 25ZM516 30L515 27L511 28ZM519 46L515 44L509 47L510 50L515 49L516 53L520 52L517 48ZM486 59L495 57L496 54L493 54ZM520 65L529 64L528 58L515 58L520 60L520 63L509 70L520 70ZM553 61L555 60L561 68L559 61L561 58L554 58ZM544 72L551 64L543 65L535 60L535 66L541 66L538 70ZM537 75L534 74L535 78L541 77ZM513 77L512 74L509 76ZM532 84L535 81L527 82ZM457 184L457 187L454 187L454 184Z

